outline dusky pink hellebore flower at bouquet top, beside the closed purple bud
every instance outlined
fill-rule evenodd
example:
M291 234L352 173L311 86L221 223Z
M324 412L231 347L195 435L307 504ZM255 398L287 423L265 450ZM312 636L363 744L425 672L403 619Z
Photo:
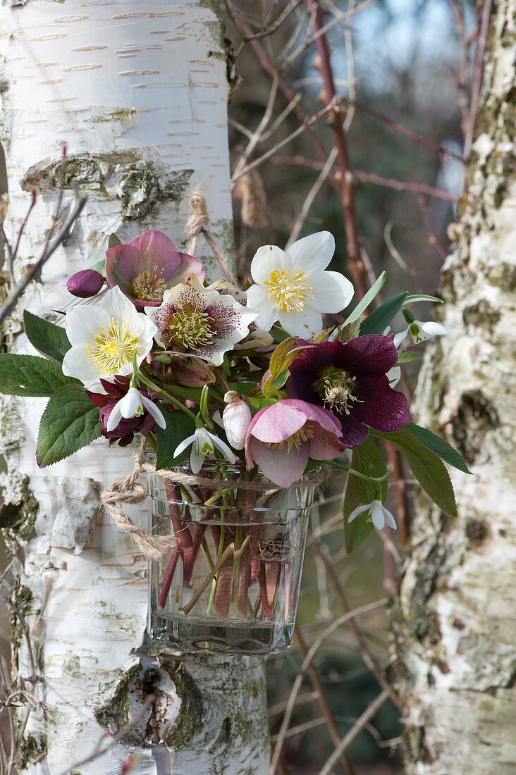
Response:
M140 309L158 307L164 291L184 283L192 273L203 281L203 262L187 253L179 253L163 232L144 232L126 245L106 250L109 288L118 285Z

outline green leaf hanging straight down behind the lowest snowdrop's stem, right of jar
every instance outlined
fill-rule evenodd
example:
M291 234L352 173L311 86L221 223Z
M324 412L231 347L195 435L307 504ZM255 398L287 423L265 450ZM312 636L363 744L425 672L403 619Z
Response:
M372 439L365 439L365 442L353 449L351 467L361 474L367 474L369 477L383 477L386 473L386 465L383 457L376 449ZM381 487L382 503L387 498L387 481L368 482L365 479L359 479L349 474L346 494L344 499L344 537L346 551L351 554L358 549L365 539L368 538L374 525L367 522L367 514L359 514L353 522L348 522L348 516L357 506L371 503L376 498L376 493Z

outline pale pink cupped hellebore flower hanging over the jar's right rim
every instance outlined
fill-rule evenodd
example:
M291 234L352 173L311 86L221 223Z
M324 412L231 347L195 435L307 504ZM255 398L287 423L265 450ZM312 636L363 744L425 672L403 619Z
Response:
M333 460L343 451L341 423L320 406L286 398L255 415L245 439L250 470L255 463L279 487L289 487L313 460Z

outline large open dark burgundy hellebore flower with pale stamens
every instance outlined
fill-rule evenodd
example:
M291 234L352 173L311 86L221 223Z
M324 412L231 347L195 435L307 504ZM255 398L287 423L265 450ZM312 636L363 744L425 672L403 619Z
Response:
M329 409L342 425L341 443L355 447L367 426L397 431L411 421L407 398L389 386L386 372L398 360L394 335L369 334L351 342L321 342L290 364L289 394Z

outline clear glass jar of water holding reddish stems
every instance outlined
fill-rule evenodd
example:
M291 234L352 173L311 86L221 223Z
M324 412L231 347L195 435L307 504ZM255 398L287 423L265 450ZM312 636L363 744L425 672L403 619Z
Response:
M293 637L313 487L307 480L289 490L264 489L258 477L260 489L238 488L241 470L226 465L222 472L215 462L200 475L222 480L199 487L147 475L151 532L178 539L163 560L151 562L154 645L194 653L283 651Z

